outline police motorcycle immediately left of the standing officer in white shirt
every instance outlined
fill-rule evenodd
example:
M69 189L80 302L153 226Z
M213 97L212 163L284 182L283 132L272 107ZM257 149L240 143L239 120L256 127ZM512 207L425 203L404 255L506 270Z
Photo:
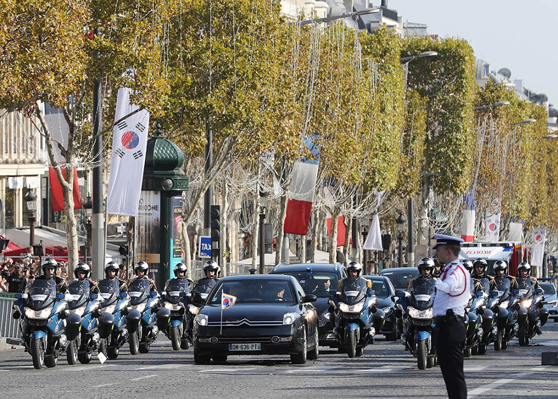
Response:
M419 370L436 366L436 349L432 345L434 330L434 294L436 280L416 280L413 292L398 292L397 307L402 312L403 334L401 343L417 358Z

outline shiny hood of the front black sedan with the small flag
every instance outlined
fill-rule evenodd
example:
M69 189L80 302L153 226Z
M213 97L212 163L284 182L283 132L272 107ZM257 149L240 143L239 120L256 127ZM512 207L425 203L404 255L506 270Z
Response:
M235 304L223 310L223 321L283 321L285 313L299 309L298 305L283 304ZM220 306L204 306L200 313L209 316L209 321L219 321L221 318Z

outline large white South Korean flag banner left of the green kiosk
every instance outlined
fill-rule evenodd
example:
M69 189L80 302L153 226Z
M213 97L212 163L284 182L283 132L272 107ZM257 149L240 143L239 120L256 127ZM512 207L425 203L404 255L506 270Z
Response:
M133 76L133 70L123 76ZM107 200L107 213L112 215L137 216L140 203L150 114L146 109L137 111L131 95L131 89L121 88L116 100Z

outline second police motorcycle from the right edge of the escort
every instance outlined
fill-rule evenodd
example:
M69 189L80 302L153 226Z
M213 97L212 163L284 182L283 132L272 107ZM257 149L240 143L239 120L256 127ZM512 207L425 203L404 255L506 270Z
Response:
M494 350L505 350L509 340L516 336L519 324L527 318L527 311L519 304L519 290L511 289L508 278L494 278L494 281L497 289L490 292L487 309L496 314L498 331Z

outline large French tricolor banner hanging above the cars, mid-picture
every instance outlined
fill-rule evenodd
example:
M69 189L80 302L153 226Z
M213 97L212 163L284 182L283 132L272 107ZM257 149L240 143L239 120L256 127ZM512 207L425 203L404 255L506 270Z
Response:
M313 160L300 158L292 169L290 199L287 203L285 233L306 235L310 224L312 203L318 180L318 146L313 138L306 140L306 146L314 156Z

